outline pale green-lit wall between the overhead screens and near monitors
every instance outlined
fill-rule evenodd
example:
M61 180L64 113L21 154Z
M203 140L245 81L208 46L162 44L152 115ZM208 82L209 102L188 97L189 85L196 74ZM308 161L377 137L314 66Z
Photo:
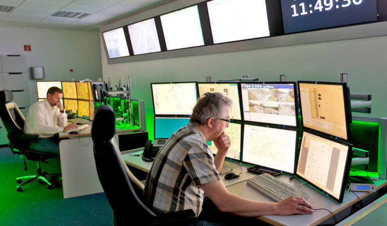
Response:
M102 42L101 42L102 46ZM102 47L103 79L131 77L133 97L146 101L147 127L153 126L151 82L212 81L237 79L243 75L260 81L340 81L349 74L351 93L372 94L372 114L387 117L387 36L321 42L248 51L189 56L130 63L107 64Z

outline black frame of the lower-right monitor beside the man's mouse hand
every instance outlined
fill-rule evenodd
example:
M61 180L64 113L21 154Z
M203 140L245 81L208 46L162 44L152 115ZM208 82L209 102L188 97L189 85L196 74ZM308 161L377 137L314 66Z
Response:
M300 154L301 154L301 145L302 145L302 138L304 136L304 132L306 133L309 133L309 134L312 134L312 135L315 135L317 137L320 137L322 139L327 139L329 141L333 141L333 142L336 142L336 143L340 143L342 145L346 145L348 146L348 155L347 155L347 159L346 159L346 162L345 162L345 168L344 168L344 175L343 175L343 181L342 181L342 186L341 186L341 190L340 190L340 195L339 195L339 198L336 198L335 196L331 195L330 193L328 193L327 191L325 191L324 189L318 187L317 185L315 185L314 183L310 182L308 179L300 176L299 174L297 174L297 169L295 171L295 175L298 176L299 178L301 178L302 180L306 181L309 185L311 185L313 188L317 189L318 191L320 191L322 194L326 195L327 197L339 202L339 203L343 203L343 199L344 199L344 193L345 193L345 187L347 185L346 182L348 182L348 177L349 177L349 171L351 169L351 163L352 163L352 147L353 145L351 143L347 143L347 142L344 142L344 141L341 141L341 140L336 140L336 139L332 139L331 137L327 137L327 136L322 136L321 134L318 134L318 133L315 133L313 131L302 131L302 135L301 135L301 140L300 140L300 145L299 145L299 149L298 149L298 158L297 158L297 165L296 167L298 168L298 163L299 163L299 158L300 158Z

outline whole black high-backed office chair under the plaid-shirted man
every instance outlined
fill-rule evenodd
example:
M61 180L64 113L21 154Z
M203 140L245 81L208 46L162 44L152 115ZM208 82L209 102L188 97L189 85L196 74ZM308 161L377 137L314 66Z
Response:
M101 105L91 127L98 178L113 210L114 225L188 225L195 213L182 210L156 215L146 204L144 185L127 168L114 144L115 113Z

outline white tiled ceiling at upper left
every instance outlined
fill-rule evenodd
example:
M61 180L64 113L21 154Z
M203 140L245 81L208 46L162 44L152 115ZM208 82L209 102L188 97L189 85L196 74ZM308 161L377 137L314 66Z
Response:
M3 11L10 11L0 12L0 26L99 31L99 26L102 24L166 1L0 0L0 10L3 8ZM81 14L73 14L78 16L78 18L51 16L58 11ZM70 16L70 14L67 14L67 16Z

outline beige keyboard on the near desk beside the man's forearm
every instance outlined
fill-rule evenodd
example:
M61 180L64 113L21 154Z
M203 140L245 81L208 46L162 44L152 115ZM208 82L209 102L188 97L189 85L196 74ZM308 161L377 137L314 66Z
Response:
M246 180L246 182L251 187L277 202L289 196L300 196L304 199L308 199L310 197L308 193L303 192L267 173L250 178Z

